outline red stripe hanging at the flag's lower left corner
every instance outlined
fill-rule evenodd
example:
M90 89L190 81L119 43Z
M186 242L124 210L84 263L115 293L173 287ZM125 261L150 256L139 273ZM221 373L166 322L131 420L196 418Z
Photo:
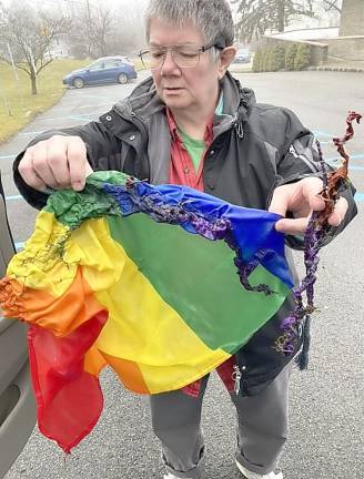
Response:
M84 371L83 365L107 319L102 310L65 337L34 325L28 332L39 429L64 452L92 430L102 412L99 379Z

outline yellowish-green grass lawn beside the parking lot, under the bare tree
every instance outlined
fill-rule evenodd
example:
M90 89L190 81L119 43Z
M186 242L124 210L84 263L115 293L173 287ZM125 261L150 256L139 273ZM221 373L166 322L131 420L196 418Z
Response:
M16 80L12 68L0 62L0 143L21 130L38 113L58 103L65 91L64 74L85 67L90 60L54 60L38 77L38 94L31 94L30 78L22 70ZM134 60L135 69L141 70L141 61Z

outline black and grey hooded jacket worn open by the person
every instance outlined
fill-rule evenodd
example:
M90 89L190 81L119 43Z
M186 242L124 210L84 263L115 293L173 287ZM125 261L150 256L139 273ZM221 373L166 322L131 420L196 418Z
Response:
M240 206L265 210L276 186L321 175L317 154L312 147L313 135L294 113L256 103L253 91L242 89L230 74L221 89L223 115L214 119L214 140L203 166L206 193ZM99 122L46 132L30 145L53 134L81 136L94 171L119 170L154 184L168 182L171 137L165 106L156 96L151 79L138 85ZM28 187L18 172L22 154L14 162L14 181L31 205L42 207L47 195ZM340 227L327 232L325 244L355 216L354 192L353 187L343 192L348 212ZM286 240L290 246L302 248L302 241L296 237ZM272 346L282 333L282 319L292 308L291 297L237 354L239 364L244 366L243 394L260 391L291 360ZM296 351L300 347L301 340Z

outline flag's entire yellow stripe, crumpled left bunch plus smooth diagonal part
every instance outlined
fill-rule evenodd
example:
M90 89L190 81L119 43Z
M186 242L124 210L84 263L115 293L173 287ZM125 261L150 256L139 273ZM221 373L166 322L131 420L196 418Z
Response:
M160 297L112 240L107 220L83 222L64 246L68 235L68 227L42 211L27 249L11 262L9 276L60 297L71 287L78 265L82 266L95 298L110 313L95 346L101 353L134 361L151 393L178 389L230 357L206 347ZM128 375L130 367L125 369L125 385L130 387Z

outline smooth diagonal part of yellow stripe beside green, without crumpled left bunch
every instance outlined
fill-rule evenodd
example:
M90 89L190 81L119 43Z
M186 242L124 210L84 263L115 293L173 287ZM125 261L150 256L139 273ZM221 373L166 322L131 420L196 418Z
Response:
M135 361L151 393L185 386L230 357L206 347L161 298L123 247L111 238L105 220L89 223L92 227L73 235L72 241L82 254L87 283L109 310L97 342L102 353ZM100 249L85 247L90 244L99 244Z

